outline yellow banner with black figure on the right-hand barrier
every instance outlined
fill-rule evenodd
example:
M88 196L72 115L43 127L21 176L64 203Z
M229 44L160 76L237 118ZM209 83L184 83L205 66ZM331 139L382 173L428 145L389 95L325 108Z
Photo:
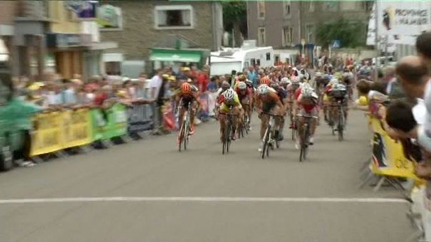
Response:
M422 181L416 177L414 164L405 157L401 143L395 142L388 136L388 133L383 130L380 120L371 117L370 122L374 134L371 170L375 174Z

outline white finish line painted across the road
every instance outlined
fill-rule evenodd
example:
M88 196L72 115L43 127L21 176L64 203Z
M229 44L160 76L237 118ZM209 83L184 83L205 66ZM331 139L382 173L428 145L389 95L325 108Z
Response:
M197 201L197 202L328 202L328 203L398 203L405 199L383 198L331 198L331 197L206 197L206 196L112 196L112 197L64 197L46 199L0 199L0 204L42 204L97 201Z

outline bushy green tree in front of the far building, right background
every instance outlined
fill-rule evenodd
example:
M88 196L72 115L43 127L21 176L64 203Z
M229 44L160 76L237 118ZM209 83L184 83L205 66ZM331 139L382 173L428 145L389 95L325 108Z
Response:
M323 48L327 48L333 40L340 40L341 46L346 48L365 46L365 24L339 18L336 21L321 23L317 28L316 36Z

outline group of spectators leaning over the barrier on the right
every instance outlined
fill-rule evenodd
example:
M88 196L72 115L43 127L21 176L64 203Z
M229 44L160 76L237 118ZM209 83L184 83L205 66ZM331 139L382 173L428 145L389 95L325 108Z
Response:
M431 180L431 32L416 41L417 56L405 56L375 81L359 80L355 107L377 117L388 135L415 162L417 177ZM431 199L431 184L427 184Z

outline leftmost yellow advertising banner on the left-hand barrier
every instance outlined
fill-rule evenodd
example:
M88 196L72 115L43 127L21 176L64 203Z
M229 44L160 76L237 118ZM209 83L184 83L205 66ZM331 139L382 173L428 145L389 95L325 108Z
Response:
M33 119L30 156L47 154L63 149L61 112L36 115Z

